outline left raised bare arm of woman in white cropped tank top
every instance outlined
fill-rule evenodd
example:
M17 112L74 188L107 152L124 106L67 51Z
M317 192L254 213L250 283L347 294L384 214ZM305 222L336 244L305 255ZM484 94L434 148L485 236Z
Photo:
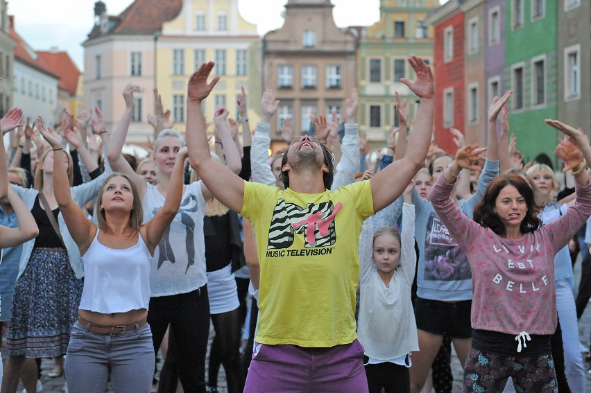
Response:
M92 227L94 224L88 220L80 210L78 204L72 199L70 183L66 171L65 152L62 146L62 138L51 127L46 128L41 116L38 118L39 130L53 149L53 194L58 202L60 213L68 227L69 233L80 250L87 250L92 242Z

